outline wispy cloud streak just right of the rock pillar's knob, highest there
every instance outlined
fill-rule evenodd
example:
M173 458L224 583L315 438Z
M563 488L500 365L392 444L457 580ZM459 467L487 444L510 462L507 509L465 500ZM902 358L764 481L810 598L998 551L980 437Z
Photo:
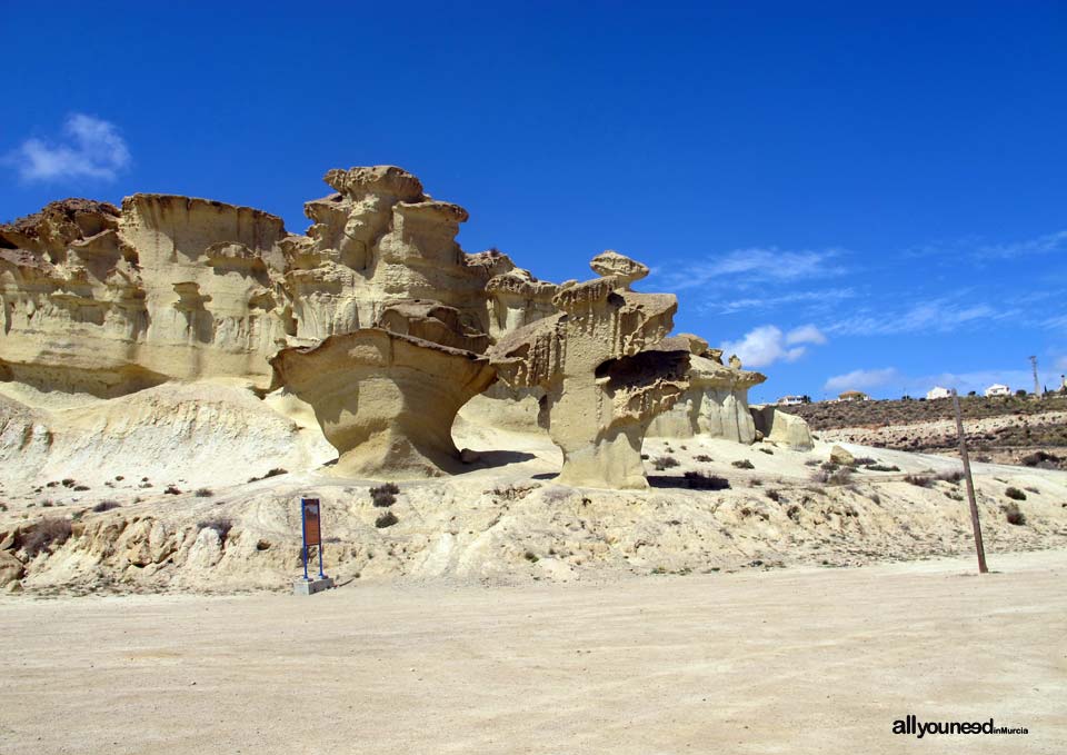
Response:
M718 286L727 281L730 287L737 287L737 278L741 278L747 286L759 282L789 282L840 275L845 271L844 268L832 262L840 254L839 249L735 249L720 257L672 266L669 272L662 272L661 276L671 290Z

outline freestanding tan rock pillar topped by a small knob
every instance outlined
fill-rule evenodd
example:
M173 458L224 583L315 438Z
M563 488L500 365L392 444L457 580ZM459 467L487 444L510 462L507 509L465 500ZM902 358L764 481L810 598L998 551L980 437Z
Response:
M539 419L564 453L560 483L646 488L645 431L688 387L689 348L666 339L672 295L629 290L647 268L607 252L594 269L600 278L556 294L558 315L505 337L490 358L512 388L545 390Z

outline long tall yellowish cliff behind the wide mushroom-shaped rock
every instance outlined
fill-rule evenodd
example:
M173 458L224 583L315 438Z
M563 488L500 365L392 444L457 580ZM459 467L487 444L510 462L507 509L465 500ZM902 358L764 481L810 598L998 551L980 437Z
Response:
M266 388L269 357L367 328L398 300L487 337L552 314L556 287L456 242L467 211L400 168L331 170L303 236L280 218L141 193L70 199L0 226L0 380L121 396L171 379ZM492 285L490 285L490 281Z

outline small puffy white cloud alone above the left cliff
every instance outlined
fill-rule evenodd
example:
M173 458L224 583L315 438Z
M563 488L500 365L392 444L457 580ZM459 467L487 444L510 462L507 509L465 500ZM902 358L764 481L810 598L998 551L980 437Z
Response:
M64 139L49 143L27 139L8 157L26 181L70 178L114 180L130 163L130 150L118 128L92 116L74 113L63 123Z

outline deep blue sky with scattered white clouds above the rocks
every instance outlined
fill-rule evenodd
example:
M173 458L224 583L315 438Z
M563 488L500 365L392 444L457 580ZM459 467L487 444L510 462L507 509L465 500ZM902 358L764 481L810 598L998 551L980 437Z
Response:
M327 169L393 163L470 211L468 251L645 261L757 400L1067 371L1061 2L0 0L0 219L162 191L301 232Z

